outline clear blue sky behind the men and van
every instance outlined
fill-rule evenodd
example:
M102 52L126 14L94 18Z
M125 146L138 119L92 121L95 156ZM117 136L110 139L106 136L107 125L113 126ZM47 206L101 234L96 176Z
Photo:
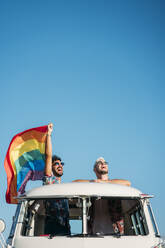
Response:
M63 182L94 178L94 161L104 156L110 178L155 195L165 235L164 27L164 0L0 1L5 237L15 211L5 203L7 148L15 134L49 122Z

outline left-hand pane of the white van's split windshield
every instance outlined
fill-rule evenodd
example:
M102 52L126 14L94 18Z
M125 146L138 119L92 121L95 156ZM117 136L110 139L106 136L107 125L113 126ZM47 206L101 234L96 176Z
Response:
M54 198L28 201L22 227L23 236L63 236L81 232L81 199Z

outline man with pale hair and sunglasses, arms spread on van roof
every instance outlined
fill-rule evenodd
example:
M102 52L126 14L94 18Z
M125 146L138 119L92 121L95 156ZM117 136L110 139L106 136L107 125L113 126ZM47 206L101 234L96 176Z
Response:
M109 179L108 162L103 157L98 158L93 168L97 179L95 180L75 180L75 182L97 182L115 183L130 186L131 183L124 179ZM88 232L96 233L124 233L124 220L122 217L121 200L114 199L92 199L89 209Z

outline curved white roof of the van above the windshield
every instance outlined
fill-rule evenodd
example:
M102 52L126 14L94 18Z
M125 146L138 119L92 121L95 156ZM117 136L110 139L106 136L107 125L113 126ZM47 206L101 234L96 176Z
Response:
M142 192L135 188L119 184L72 182L34 188L21 195L19 199L69 198L77 196L140 197L141 194Z

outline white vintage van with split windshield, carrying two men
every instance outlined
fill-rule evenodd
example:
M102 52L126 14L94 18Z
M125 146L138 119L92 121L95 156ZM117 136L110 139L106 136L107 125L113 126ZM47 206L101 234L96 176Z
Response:
M111 183L72 182L34 188L19 197L4 247L162 248L150 197ZM68 203L70 233L54 230L49 234L45 231L47 203L63 200Z

